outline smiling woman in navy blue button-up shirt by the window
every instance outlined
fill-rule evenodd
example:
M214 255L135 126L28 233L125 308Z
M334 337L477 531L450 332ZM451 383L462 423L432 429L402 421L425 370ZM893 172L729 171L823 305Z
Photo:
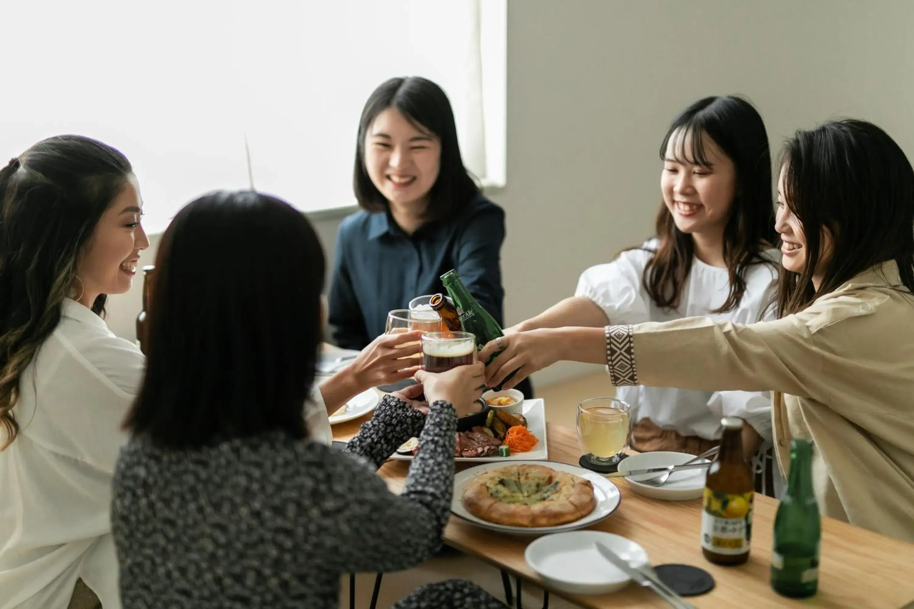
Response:
M358 126L354 186L362 208L336 240L330 324L334 340L362 349L384 333L388 311L444 292L455 269L503 324L500 257L505 212L463 167L451 102L427 79L389 79ZM525 394L529 386L518 387Z

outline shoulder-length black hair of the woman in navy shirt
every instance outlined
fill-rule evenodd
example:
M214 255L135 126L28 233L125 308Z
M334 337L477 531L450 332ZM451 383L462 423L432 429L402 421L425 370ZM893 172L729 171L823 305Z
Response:
M386 211L388 200L371 181L365 166L365 140L377 115L393 108L418 131L441 143L441 169L429 191L426 220L440 220L453 215L462 205L480 193L473 176L463 166L457 126L451 102L444 91L429 79L418 76L389 79L368 98L358 122L356 169L353 187L358 205L369 212Z

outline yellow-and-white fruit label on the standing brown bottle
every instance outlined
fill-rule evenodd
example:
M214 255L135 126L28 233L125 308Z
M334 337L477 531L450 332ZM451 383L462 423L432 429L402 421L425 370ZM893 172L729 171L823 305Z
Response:
M748 493L716 493L705 488L701 546L717 554L745 554L752 539L752 498Z

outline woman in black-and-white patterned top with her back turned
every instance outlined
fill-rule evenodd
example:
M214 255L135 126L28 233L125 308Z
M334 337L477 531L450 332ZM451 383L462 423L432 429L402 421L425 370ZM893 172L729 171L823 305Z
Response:
M313 228L278 199L209 194L175 216L114 477L125 609L335 609L341 574L405 569L441 546L457 415L479 394L482 364L417 373L422 384L385 397L344 450L310 441L301 404L323 282ZM423 391L430 405L414 401ZM375 469L410 436L419 452L397 496ZM395 606L505 605L449 581Z

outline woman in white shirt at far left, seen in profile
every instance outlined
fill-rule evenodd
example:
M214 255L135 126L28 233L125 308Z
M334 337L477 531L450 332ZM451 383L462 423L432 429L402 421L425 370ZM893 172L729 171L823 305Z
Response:
M149 247L142 207L127 159L89 138L0 169L0 609L121 606L112 474L144 359L101 314ZM314 436L330 441L327 411L415 372L389 342L314 392Z

